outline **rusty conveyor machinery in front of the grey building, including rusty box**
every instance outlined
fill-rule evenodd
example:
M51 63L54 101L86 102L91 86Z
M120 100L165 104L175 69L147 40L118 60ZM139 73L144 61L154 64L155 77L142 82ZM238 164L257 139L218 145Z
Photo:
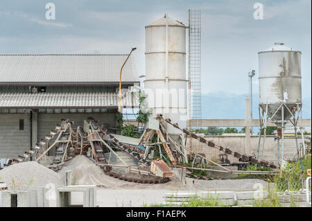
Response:
M88 155L89 158L96 163L96 165L103 168L106 175L123 179L128 182L138 182L142 184L158 184L168 182L169 177L173 177L173 172L166 163L158 160L153 164L153 169L150 168L150 161L143 158L144 151L135 145L121 143L114 137L113 134L108 132L107 128L103 128L98 121L90 117L84 121L83 127L78 126L76 129L72 127L73 122L62 119L60 124L55 125L55 130L51 130L50 134L46 134L44 139L31 148L25 154L19 155L17 159L12 159L4 164L3 168L15 163L23 161L37 161L38 163L46 158L46 154L55 149L55 156L48 168L54 171L60 170L66 161L69 161L75 155ZM110 141L104 141L103 136L107 136ZM53 141L53 142L52 142ZM128 165L118 155L118 151L124 151L130 154L133 158L137 159L139 165L144 167L134 168L135 165ZM110 158L105 158L105 152L115 154L123 165L115 165L110 163ZM112 167L127 168L130 173L138 173L140 178L125 177L112 171ZM3 169L0 167L0 170Z

